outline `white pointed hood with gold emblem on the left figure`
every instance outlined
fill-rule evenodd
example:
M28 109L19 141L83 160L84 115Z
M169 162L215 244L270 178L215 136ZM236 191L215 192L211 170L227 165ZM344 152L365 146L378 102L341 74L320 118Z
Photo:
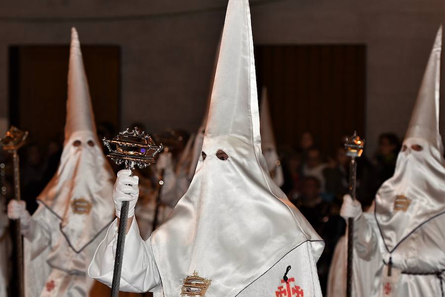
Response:
M97 140L87 77L75 28L71 32L65 143L59 168L38 200L60 219L69 246L82 251L113 219L114 174ZM66 251L57 250L63 257ZM60 245L61 249L64 245ZM57 259L63 261L63 259Z

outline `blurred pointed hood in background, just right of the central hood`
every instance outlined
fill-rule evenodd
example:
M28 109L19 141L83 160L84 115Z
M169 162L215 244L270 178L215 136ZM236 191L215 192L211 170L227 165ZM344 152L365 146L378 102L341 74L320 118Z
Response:
M284 184L283 168L281 167L281 161L276 152L275 136L273 134L272 120L270 119L266 87L263 87L261 95L260 132L261 148L266 158L270 177L278 187L281 187Z

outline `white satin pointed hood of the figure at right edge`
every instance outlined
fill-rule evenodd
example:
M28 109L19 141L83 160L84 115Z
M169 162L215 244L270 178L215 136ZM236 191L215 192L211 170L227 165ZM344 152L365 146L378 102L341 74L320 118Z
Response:
M445 211L445 161L439 134L442 26L399 153L394 176L376 196L375 214L389 252Z

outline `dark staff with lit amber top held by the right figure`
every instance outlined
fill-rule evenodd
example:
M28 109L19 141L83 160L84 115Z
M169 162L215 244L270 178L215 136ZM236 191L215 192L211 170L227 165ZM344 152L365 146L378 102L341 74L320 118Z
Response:
M356 177L357 160L363 153L364 140L357 136L354 131L353 136L345 140L346 154L351 157L349 165L349 195L356 199ZM346 273L346 297L352 297L352 275L353 275L353 251L354 251L354 218L348 218L348 262Z

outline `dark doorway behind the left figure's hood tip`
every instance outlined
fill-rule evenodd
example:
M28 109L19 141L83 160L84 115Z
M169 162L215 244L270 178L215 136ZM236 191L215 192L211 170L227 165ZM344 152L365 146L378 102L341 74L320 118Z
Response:
M27 130L42 148L63 136L66 115L68 46L17 46L9 49L11 124ZM120 49L83 46L96 124L119 127Z

